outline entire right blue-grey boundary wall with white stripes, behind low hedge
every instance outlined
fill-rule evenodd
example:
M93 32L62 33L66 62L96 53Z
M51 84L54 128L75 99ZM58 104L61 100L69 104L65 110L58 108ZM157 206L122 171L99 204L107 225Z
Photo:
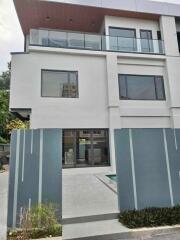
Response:
M115 130L120 211L180 204L180 129Z

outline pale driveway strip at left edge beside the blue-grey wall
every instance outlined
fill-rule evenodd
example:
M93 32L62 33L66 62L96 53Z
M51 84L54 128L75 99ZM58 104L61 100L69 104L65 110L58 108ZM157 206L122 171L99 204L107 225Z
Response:
M6 239L8 173L0 173L0 240Z

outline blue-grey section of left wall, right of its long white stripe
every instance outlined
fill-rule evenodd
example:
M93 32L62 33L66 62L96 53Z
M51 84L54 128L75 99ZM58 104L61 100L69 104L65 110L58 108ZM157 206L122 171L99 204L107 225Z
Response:
M62 203L62 130L43 131L42 199L57 206ZM60 209L62 212L62 209Z

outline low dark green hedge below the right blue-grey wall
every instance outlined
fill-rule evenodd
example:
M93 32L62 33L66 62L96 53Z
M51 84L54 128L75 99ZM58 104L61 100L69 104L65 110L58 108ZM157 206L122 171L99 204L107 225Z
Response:
M128 228L176 225L180 224L180 206L126 211L119 215L119 221Z

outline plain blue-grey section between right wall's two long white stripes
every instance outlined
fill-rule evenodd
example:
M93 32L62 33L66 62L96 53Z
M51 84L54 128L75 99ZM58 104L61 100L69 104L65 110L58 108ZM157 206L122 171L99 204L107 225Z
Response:
M162 129L133 129L138 209L170 206Z

